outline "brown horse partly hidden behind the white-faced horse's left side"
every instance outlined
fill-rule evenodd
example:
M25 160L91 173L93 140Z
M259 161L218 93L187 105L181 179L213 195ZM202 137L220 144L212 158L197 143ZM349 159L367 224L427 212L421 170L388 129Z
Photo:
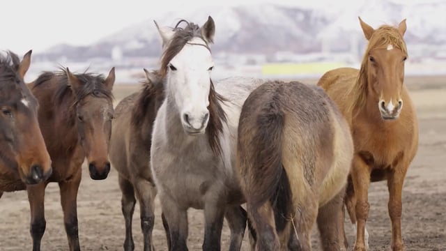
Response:
M109 157L118 171L122 192L121 206L125 220L124 250L134 250L132 217L136 194L141 208L141 230L144 250L153 250L154 199L156 188L151 176L150 146L152 124L164 100L163 80L158 71L144 69L146 82L142 89L121 100L112 121Z

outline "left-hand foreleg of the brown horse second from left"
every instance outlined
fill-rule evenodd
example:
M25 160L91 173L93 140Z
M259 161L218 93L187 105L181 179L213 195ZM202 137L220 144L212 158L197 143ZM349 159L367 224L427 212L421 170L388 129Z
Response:
M40 250L40 241L42 241L43 234L47 222L45 221L45 183L36 185L27 185L26 192L28 193L29 207L31 211L30 233L33 238L33 251Z

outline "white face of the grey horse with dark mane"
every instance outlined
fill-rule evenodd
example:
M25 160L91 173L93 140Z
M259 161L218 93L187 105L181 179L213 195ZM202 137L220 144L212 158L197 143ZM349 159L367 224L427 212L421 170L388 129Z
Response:
M170 62L176 70L169 68L167 73L167 88L175 98L183 126L192 130L206 127L203 118L208 114L209 68L213 66L213 61L210 51L203 45L206 44L201 38L190 40Z

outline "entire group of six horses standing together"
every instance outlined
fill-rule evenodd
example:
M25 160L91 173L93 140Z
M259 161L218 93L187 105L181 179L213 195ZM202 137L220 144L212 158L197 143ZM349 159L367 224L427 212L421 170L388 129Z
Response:
M417 152L418 128L404 79L398 26L374 29L360 69L338 68L316 86L227 77L213 82L215 23L158 26L159 70L113 107L107 77L68 68L24 75L22 60L0 57L0 197L26 190L33 250L45 232L44 197L59 183L70 250L80 250L77 190L87 160L95 180L114 167L125 220L124 250L134 250L132 216L140 205L144 250L154 250L154 199L160 199L169 250L187 250L187 209L202 209L203 250L220 250L224 218L229 250L248 229L252 250L311 250L318 226L323 250L348 248L344 205L355 225L354 250L368 249L370 182L387 180L392 250L403 250L401 190ZM245 207L242 205L245 204Z

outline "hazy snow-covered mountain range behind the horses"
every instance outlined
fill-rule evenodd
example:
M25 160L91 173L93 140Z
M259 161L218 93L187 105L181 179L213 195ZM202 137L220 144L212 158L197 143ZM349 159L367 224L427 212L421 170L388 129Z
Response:
M435 56L437 48L445 50L446 1L408 4L396 0L357 0L350 1L348 6L334 2L328 1L326 6L318 7L262 4L163 13L116 31L92 45L55 45L36 57L86 61L110 58L114 50L119 50L123 56L159 56L161 45L153 20L162 26L174 26L180 19L201 25L208 15L215 20L215 45L212 47L215 53L302 54L321 52L327 47L330 52L351 52L352 47L365 43L358 16L375 28L380 24L395 25L407 18L406 43L416 45L417 54L422 56L424 48L427 56Z

